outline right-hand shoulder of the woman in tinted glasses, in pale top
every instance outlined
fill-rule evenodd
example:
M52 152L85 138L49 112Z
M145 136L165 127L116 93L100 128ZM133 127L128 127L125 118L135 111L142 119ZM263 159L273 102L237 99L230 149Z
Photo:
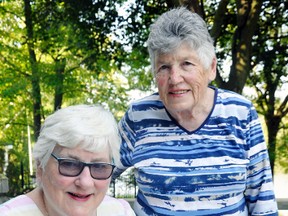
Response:
M130 204L124 199L105 196L97 209L99 216L134 216Z

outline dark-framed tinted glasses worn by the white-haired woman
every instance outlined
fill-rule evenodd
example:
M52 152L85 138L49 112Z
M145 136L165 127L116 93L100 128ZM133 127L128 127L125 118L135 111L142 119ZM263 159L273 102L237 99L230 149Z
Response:
M115 165L110 163L85 163L79 160L73 160L69 158L58 158L53 153L51 154L58 161L59 173L63 176L75 177L80 175L84 167L88 166L90 175L97 180L105 180L112 175Z

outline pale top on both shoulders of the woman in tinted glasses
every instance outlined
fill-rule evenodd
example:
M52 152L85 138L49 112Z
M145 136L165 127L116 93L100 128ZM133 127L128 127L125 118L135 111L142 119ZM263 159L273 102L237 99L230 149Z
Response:
M43 216L40 209L26 195L17 196L0 205L1 216ZM135 216L129 203L124 199L105 196L97 208L97 216Z

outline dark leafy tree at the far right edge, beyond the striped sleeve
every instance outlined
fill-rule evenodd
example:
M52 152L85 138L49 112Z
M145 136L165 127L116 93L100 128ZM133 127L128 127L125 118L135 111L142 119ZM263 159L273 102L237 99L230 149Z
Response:
M284 1L265 2L261 15L265 19L260 19L257 30L252 61L254 70L250 73L248 84L256 89L257 108L265 118L269 156L274 168L277 135L281 128L287 128L288 94L281 90L287 84L288 75L287 4ZM282 92L281 98L277 98L277 91Z

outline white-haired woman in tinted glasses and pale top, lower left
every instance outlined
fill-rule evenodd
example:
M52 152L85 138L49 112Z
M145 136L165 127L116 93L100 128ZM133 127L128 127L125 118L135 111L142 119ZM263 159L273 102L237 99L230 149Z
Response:
M119 145L117 123L101 106L56 111L34 146L37 187L2 204L0 215L135 215L128 202L106 195Z

